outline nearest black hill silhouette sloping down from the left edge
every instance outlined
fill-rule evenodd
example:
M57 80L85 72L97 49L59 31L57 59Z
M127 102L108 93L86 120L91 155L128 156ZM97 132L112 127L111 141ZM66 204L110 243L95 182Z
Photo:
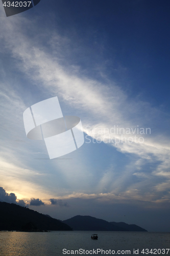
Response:
M0 202L0 230L71 230L57 219L16 204Z

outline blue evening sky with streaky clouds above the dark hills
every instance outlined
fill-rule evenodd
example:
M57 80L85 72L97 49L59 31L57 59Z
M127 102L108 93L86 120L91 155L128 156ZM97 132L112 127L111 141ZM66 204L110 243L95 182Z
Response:
M169 8L41 0L6 17L0 3L0 201L170 230ZM22 115L56 96L85 143L50 160Z

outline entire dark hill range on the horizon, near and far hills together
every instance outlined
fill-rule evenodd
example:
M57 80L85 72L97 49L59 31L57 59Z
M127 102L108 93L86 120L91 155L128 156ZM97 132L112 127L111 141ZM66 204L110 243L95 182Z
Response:
M16 204L0 202L0 230L43 231L43 230L82 230L82 231L147 231L137 225L125 222L108 222L91 216L77 215L60 221L49 215Z

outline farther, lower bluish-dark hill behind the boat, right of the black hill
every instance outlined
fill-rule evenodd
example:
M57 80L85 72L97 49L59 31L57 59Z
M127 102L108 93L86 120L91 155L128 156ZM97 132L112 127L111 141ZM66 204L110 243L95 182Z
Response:
M136 225L129 225L124 222L108 222L91 216L77 215L63 222L73 230L82 231L147 231Z

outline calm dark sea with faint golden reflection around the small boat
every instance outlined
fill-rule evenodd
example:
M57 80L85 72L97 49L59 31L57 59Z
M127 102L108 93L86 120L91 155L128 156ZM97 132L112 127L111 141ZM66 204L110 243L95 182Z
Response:
M147 250L144 251L145 254L141 253L142 249L147 248L153 249L154 255L170 255L170 250L168 254L166 254L167 250L165 253L163 250L154 251L154 249L170 249L170 233L98 231L99 239L91 240L92 233L89 231L0 232L0 256L69 255L63 254L63 249L70 250L70 255L106 255L106 253L113 255L111 253L113 250L115 254L118 250L122 251L118 252L119 255L125 255L126 250L130 250L131 255L135 255L134 249L139 249L138 255L147 255ZM75 250L79 249L84 249L86 253L82 251L82 254L78 252L75 254ZM94 253L91 251L93 249ZM105 250L105 254L104 251L97 254L97 249ZM71 250L74 251L71 253Z

